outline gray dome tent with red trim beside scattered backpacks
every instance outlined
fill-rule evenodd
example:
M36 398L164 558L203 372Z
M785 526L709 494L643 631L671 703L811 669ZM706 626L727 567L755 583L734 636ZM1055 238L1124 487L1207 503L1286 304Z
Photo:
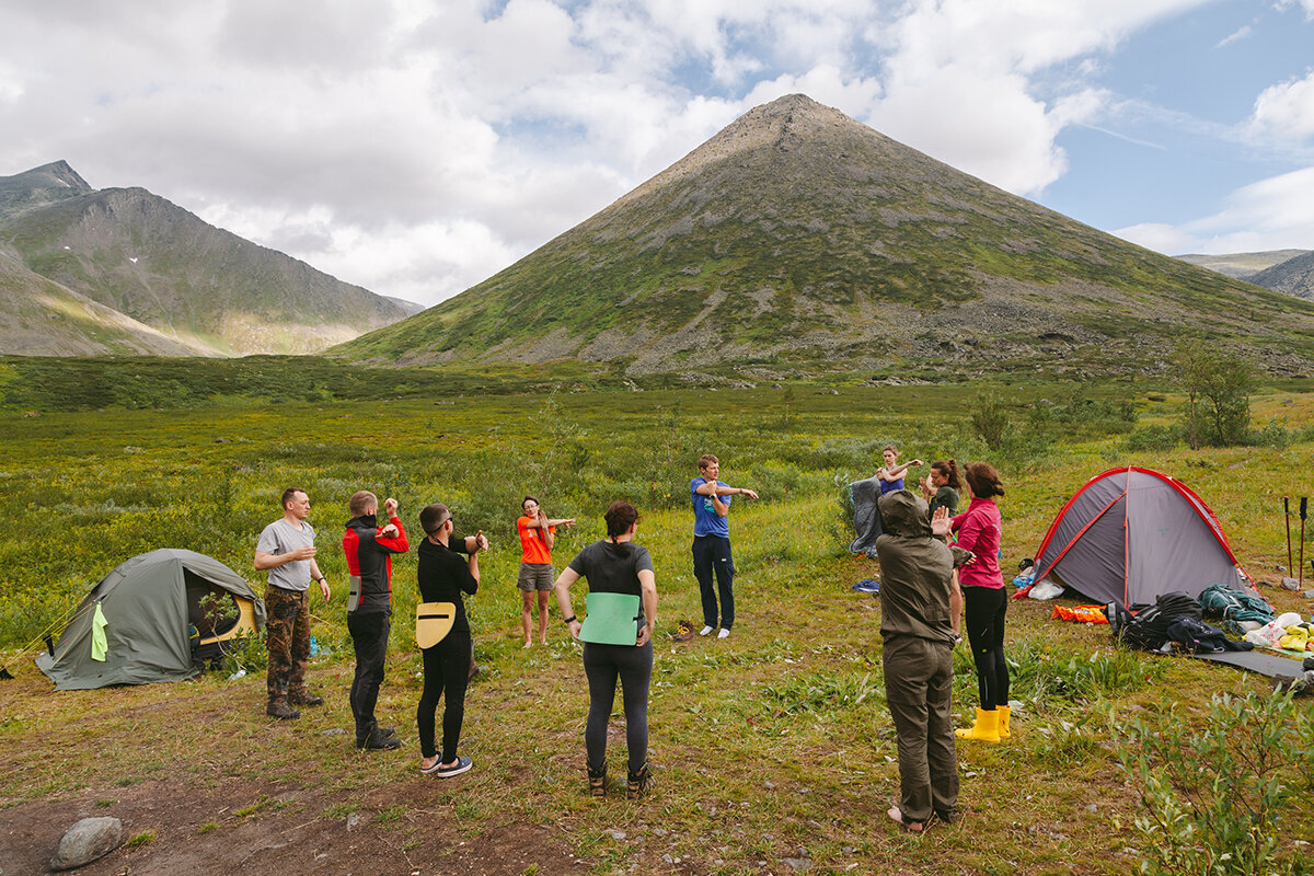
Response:
M1126 466L1091 478L1068 499L1035 552L1035 578L1122 605L1210 584L1246 590L1222 524L1167 474Z

